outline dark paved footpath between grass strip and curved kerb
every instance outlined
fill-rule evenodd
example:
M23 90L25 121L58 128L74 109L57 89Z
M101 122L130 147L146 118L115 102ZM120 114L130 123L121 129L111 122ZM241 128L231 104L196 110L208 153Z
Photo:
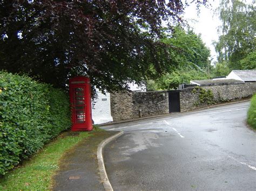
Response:
M114 135L114 131L96 132L93 137L82 140L67 152L53 177L53 190L104 190L100 181L97 147L102 140Z

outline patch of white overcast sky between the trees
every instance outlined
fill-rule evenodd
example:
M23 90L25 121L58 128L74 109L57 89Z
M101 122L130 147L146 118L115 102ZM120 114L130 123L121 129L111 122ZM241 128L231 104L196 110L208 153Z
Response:
M213 41L217 41L219 34L218 26L221 25L220 19L216 14L215 9L218 7L220 0L209 0L211 7L205 8L201 6L198 15L196 5L188 6L185 9L184 19L193 28L194 32L201 34L201 38L208 48L211 50L211 58L217 61L217 53L215 52Z

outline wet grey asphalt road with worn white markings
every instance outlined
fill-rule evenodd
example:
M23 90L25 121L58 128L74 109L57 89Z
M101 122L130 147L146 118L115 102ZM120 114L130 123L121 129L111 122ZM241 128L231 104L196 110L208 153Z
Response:
M249 102L104 126L124 130L105 147L114 190L256 190Z

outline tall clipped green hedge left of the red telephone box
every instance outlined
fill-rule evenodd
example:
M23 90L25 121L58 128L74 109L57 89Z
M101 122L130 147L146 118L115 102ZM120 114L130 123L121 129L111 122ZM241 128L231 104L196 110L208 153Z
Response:
M69 99L62 90L0 72L0 175L70 124Z

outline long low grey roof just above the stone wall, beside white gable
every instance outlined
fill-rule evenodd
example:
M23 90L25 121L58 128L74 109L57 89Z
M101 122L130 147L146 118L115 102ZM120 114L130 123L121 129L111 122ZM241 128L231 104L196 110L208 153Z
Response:
M225 79L225 80L191 80L191 83L197 83L199 86L213 86L213 85L220 85L220 84L239 84L245 83L240 80L234 79Z

